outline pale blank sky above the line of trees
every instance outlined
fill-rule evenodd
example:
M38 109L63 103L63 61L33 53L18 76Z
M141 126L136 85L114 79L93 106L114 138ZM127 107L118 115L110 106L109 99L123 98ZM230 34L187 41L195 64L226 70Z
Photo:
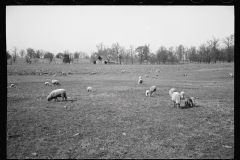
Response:
M118 42L126 49L150 44L198 47L234 34L234 6L7 6L7 50L57 54L97 51Z

